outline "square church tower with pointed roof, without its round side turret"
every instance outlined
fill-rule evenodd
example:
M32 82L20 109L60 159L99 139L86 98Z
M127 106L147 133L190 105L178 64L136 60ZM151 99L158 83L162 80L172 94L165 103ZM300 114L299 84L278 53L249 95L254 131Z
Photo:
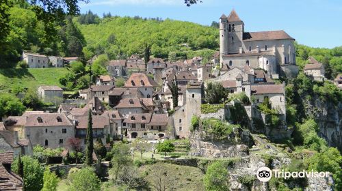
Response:
M239 18L235 10L232 10L228 18L228 54L239 53L241 47L244 53L245 47L243 47L242 40L244 38L244 22Z

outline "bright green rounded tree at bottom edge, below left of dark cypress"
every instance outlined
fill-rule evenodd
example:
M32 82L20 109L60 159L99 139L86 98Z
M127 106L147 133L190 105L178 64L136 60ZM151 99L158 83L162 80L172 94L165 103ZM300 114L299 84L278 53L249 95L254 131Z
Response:
M101 181L90 167L69 173L67 181L71 191L101 190Z

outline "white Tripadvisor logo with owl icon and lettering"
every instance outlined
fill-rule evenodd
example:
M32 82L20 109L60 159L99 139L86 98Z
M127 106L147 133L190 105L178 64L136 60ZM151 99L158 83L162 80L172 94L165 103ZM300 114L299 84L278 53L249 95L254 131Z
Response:
M329 172L316 172L316 171L284 171L280 169L274 169L271 170L266 166L258 168L257 171L257 178L259 181L269 181L272 178L272 175L276 178L283 178L283 179L289 179L289 178L304 178L304 177L315 177L315 178L326 178L329 177Z

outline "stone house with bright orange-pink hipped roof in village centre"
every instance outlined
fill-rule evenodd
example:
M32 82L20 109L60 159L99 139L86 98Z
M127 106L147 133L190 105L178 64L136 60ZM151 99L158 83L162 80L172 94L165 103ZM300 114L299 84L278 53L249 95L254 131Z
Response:
M137 88L143 95L143 98L152 98L153 91L159 85L152 78L144 73L133 73L124 83L126 88Z

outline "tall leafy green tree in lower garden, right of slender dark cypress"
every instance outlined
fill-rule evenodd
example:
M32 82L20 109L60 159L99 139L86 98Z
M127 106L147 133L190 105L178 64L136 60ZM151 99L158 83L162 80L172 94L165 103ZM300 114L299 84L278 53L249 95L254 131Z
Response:
M109 170L109 175L116 181L118 179L118 173L122 171L122 168L132 165L133 160L130 156L131 151L129 145L124 143L114 144L111 153L113 154L113 158L111 158L113 168Z

